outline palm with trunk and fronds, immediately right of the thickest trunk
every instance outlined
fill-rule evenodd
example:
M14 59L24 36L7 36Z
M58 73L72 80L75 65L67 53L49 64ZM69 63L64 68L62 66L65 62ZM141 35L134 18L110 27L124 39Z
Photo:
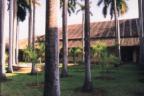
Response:
M62 29L63 29L63 65L61 77L68 76L68 28L67 28L67 13L71 15L76 9L76 0L61 0L60 2L62 9Z

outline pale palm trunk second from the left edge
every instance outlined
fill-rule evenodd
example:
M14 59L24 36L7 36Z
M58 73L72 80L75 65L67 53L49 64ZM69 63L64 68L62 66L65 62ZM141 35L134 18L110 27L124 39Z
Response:
M12 38L13 38L13 0L10 0L10 10L9 10L9 62L8 62L8 70L7 72L12 73Z

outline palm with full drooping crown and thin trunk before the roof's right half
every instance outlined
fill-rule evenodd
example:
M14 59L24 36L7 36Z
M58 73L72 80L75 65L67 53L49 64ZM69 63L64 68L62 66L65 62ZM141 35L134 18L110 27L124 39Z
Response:
M126 0L99 0L98 6L104 4L103 15L107 16L107 10L110 7L111 18L115 18L115 35L116 35L116 46L117 46L117 56L121 61L121 47L120 47L120 29L119 29L119 20L118 16L123 15L127 12L127 3Z

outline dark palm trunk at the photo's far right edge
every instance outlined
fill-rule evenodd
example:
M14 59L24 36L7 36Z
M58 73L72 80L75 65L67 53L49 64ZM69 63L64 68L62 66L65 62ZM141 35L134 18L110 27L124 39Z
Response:
M140 40L140 59L139 59L139 63L141 65L144 64L144 44L143 44L143 39L144 39L144 19L143 19L143 16L144 16L144 12L143 12L143 8L144 8L144 1L143 0L138 0L138 3L139 3L139 22L140 22L140 35L139 35L139 40Z

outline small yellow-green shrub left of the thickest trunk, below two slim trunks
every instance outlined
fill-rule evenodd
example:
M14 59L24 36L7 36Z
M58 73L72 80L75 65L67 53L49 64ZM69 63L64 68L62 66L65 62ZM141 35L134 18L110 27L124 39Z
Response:
M28 61L28 62L36 62L37 61L37 52L36 50L34 50L32 47L27 47L25 50L24 50L24 58L25 58L25 61Z

